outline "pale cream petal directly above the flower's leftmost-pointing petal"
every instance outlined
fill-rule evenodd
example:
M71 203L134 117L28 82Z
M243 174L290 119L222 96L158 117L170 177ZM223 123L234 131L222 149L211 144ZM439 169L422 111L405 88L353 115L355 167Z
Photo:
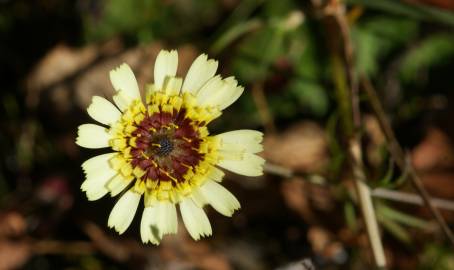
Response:
M105 98L94 96L87 108L88 115L101 124L110 125L121 117L120 111Z

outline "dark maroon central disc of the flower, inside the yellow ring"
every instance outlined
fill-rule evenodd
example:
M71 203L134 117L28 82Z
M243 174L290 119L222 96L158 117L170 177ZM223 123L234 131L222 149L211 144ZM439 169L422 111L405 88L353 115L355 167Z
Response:
M131 164L145 172L142 180L184 182L188 170L203 159L195 129L200 125L187 118L184 109L172 114L154 113L136 125L132 133L135 144L130 144Z

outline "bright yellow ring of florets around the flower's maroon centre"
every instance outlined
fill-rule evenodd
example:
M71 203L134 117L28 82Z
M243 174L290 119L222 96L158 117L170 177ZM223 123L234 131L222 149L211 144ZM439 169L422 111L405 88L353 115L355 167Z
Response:
M190 145L191 140L196 139L198 144L195 144L197 146L194 149L197 152L195 155L201 158L197 161L197 164L177 164L180 166L179 168L181 166L187 167L184 174L180 175L175 173L175 171L171 172L159 168L160 165L154 160L155 157L147 156L148 152L143 151L141 153L141 156L143 156L141 161L147 164L150 163L153 170L159 169L159 173L170 180L164 181L160 178L150 178L149 175L152 174L150 171L145 171L143 167L135 164L137 163L137 140L140 140L139 138L141 137L137 133L137 129L141 128L141 132L143 133L143 126L141 125L143 125L147 118L156 117L157 114L170 114L174 116L175 113L184 113L184 119L186 119L184 124L190 126L186 128L192 128L197 134L194 138L183 137L178 139L186 140L188 142L186 145ZM146 206L152 205L156 201L177 203L183 197L191 195L194 187L202 185L208 174L216 173L217 171L214 167L214 164L218 161L217 141L209 136L206 125L220 114L221 112L215 107L197 106L195 97L190 93L166 95L162 92L149 91L146 96L146 105L141 100L134 100L123 111L121 119L111 126L109 131L112 136L110 146L113 150L118 151L118 154L110 159L110 165L123 176L124 181L127 181L128 184L134 184L134 190L136 192L145 194ZM164 130L162 131L164 133L166 132L165 129L169 130L165 134L173 134L171 131L178 131L181 127L178 126L178 123L171 122L160 126L160 128ZM147 127L147 132L149 132L150 137L156 136L159 133L154 127ZM168 140L177 139L172 137L168 138ZM184 144L184 142L181 144ZM156 143L153 146L156 146ZM135 156L132 154L132 151L135 153ZM180 152L183 153L184 151L181 150ZM184 156L188 154L180 155ZM178 177L174 177L175 175Z

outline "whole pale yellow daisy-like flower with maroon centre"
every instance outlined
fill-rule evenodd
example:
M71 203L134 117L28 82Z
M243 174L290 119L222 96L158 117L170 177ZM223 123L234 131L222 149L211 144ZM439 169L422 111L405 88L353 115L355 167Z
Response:
M218 62L202 54L186 78L176 76L178 54L161 51L154 84L146 85L143 102L127 64L110 72L116 94L113 105L94 96L88 114L101 125L79 126L76 143L85 148L112 148L82 164L81 189L89 200L107 193L122 196L110 213L108 226L122 234L131 224L142 195L140 234L144 243L159 244L177 232L177 210L195 240L212 234L203 207L211 205L231 216L240 203L222 181L224 168L246 176L263 173L263 134L235 130L210 135L207 125L243 92L234 77L216 75Z

